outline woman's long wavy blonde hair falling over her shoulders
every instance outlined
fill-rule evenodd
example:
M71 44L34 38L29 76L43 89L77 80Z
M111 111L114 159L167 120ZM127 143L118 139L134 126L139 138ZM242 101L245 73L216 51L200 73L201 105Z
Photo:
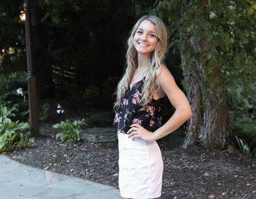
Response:
M162 22L162 20L159 17L156 17L154 15L145 15L143 17L140 17L137 23L135 23L135 26L133 26L131 34L127 41L127 54L126 54L127 69L124 72L124 75L121 78L120 82L118 82L118 86L116 89L116 93L115 93L116 102L114 103L114 107L113 107L115 112L121 106L121 98L124 97L127 89L129 88L129 85L132 82L132 77L135 73L135 70L138 67L138 54L137 54L137 50L133 45L133 40L134 40L135 32L137 31L138 27L140 26L140 23L143 20L148 20L149 22L154 24L154 29L155 29L158 42L157 42L157 47L155 48L154 52L152 52L149 65L143 74L145 78L143 79L144 85L142 88L142 98L141 98L141 106L143 106L142 109L145 108L146 104L152 101L153 91L159 89L159 85L156 85L156 78L157 78L156 72L157 72L157 69L160 68L165 58L165 52L167 50L167 30L166 30L165 24Z

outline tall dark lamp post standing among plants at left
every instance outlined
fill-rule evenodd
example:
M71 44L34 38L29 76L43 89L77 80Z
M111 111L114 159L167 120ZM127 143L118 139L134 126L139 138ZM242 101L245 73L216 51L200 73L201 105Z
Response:
M30 1L24 1L24 11L26 13L26 59L28 70L28 92L29 92L29 120L31 136L39 136L38 108L37 108L37 87L36 77L33 70L32 45L31 45L31 13Z

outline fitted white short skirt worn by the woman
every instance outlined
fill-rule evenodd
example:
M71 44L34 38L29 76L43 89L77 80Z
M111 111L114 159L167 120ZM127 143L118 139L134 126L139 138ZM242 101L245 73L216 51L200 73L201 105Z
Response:
M157 141L118 135L118 185L121 197L159 198L162 190L163 162Z

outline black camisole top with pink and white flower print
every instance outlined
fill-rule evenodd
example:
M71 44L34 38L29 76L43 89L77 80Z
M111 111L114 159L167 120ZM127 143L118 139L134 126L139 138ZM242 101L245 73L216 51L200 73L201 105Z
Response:
M128 89L124 98L121 99L121 106L116 112L113 126L118 133L127 133L130 125L138 123L151 132L157 130L162 122L162 99L152 100L146 108L142 108L141 104L141 88L143 80L135 83L132 89Z

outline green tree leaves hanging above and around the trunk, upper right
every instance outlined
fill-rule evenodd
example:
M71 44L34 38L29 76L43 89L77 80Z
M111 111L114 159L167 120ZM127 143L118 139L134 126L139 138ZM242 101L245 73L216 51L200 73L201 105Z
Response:
M255 1L157 1L152 12L165 20L170 33L170 50L182 51L186 66L193 61L206 63L205 86L212 79L222 82L237 101L255 93L256 82L256 11ZM200 52L192 48L191 39L200 44ZM216 71L219 71L216 73ZM255 94L254 94L255 96Z

